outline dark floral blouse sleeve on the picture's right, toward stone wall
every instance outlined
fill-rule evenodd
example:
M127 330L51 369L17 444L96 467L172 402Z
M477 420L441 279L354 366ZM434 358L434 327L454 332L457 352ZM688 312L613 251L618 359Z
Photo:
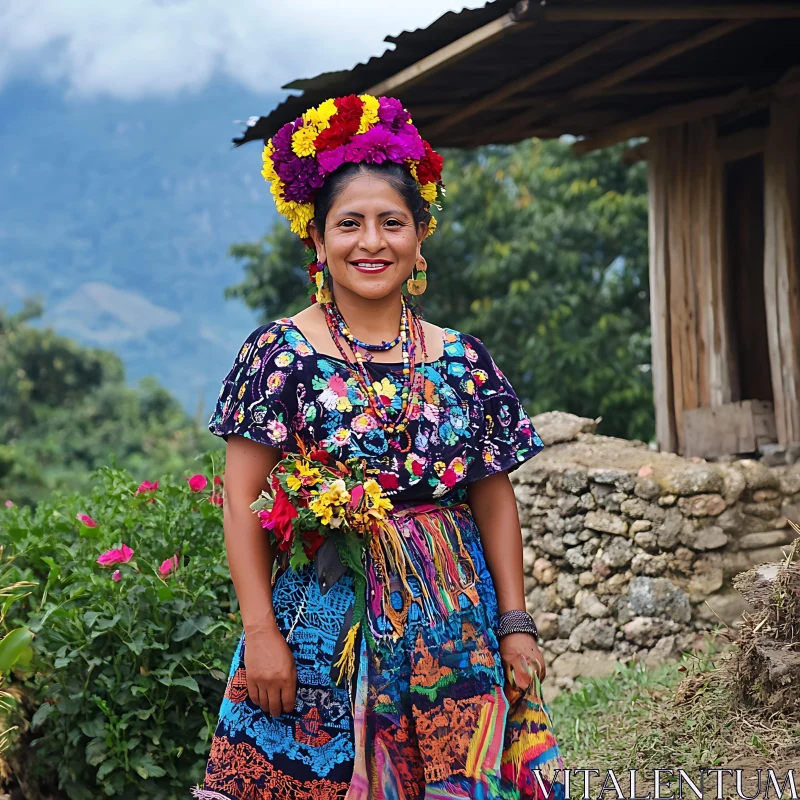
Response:
M473 362L477 399L473 434L480 451L472 461L467 479L475 481L496 472L513 471L540 453L544 443L484 344L469 337L467 355Z

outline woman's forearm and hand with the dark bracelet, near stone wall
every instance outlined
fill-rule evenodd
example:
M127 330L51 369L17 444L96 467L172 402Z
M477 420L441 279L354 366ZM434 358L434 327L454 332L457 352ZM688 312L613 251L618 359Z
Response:
M471 483L467 488L467 497L481 534L486 565L497 593L498 610L501 614L513 609L524 611L522 531L508 473L498 472ZM544 657L530 634L511 633L504 636L500 640L500 655L507 673L509 667L514 667L515 674L525 675L527 660L536 669L540 680L544 680ZM520 681L517 683L519 688L525 688Z

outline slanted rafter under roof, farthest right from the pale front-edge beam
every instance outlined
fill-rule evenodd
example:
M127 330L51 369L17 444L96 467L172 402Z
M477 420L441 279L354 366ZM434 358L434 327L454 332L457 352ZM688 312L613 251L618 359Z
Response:
M570 92L566 92L557 101L554 100L550 103L537 104L536 108L531 109L523 114L519 114L516 117L512 117L510 120L503 122L502 125L498 125L497 128L490 131L488 135L491 136L496 130L508 130L509 128L522 129L524 131L525 129L530 128L533 123L545 118L548 112L554 108L563 109L565 105L570 102L584 100L587 97L592 97L598 92L609 89L612 86L624 83L636 75L647 72L647 70L657 67L659 64L663 64L665 61L669 61L670 59L682 55L683 53L688 53L690 50L695 50L698 47L702 47L709 42L713 42L715 39L727 36L729 33L733 33L733 31L744 27L748 23L748 20L733 20L705 28L693 36L673 42L672 44L663 47L661 50L656 50L654 53L648 53L648 55L642 56L641 58L632 61L630 64L626 64L624 67L615 69L612 72L609 72L607 75L603 75L602 77L593 81L589 81L589 83L579 86Z

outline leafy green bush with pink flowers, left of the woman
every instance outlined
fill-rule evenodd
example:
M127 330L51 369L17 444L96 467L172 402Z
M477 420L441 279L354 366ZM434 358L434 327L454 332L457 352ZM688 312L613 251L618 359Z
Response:
M37 583L12 620L35 634L31 774L55 770L70 798L185 797L202 779L240 632L220 489L177 479L137 493L103 469L90 494L0 509L14 578ZM129 561L98 563L122 545Z

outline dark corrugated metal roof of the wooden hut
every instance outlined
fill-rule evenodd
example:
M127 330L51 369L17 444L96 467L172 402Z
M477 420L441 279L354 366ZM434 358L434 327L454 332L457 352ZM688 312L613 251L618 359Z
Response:
M703 5L716 6L722 2L712 0ZM747 0L738 0L736 4L755 5ZM423 135L435 147L510 143L533 135L592 135L609 125L664 107L728 94L743 86L767 85L800 63L797 47L800 19L753 20L736 29L730 26L724 35L665 58L617 83L612 81L611 86L602 90L576 95L576 90L597 78L613 75L616 70L676 43L695 37L703 39L707 31L725 19L724 12L720 11L718 19L671 19L647 26L640 24L629 28L634 31L631 35L618 37L615 32L632 23L545 21L540 16L543 4L539 0L524 5L528 6L528 23L534 24L508 27L485 46L423 74L398 92ZM614 0L614 6L619 8L647 9L654 5L649 0ZM691 4L686 0L658 0L657 5ZM730 7L731 0L725 5ZM797 8L796 3L784 5ZM428 28L387 37L387 41L396 45L394 50L349 70L290 84L291 88L302 90L302 94L284 100L235 141L242 144L267 139L306 108L331 96L361 93L512 9L519 12L521 7L513 0L495 0L480 9L445 14ZM590 0L550 0L546 6L558 10L581 7L601 6ZM607 36L615 39L611 46L553 71L501 102L473 109L464 122L442 127L448 116L496 97L512 82L558 63L577 49Z

